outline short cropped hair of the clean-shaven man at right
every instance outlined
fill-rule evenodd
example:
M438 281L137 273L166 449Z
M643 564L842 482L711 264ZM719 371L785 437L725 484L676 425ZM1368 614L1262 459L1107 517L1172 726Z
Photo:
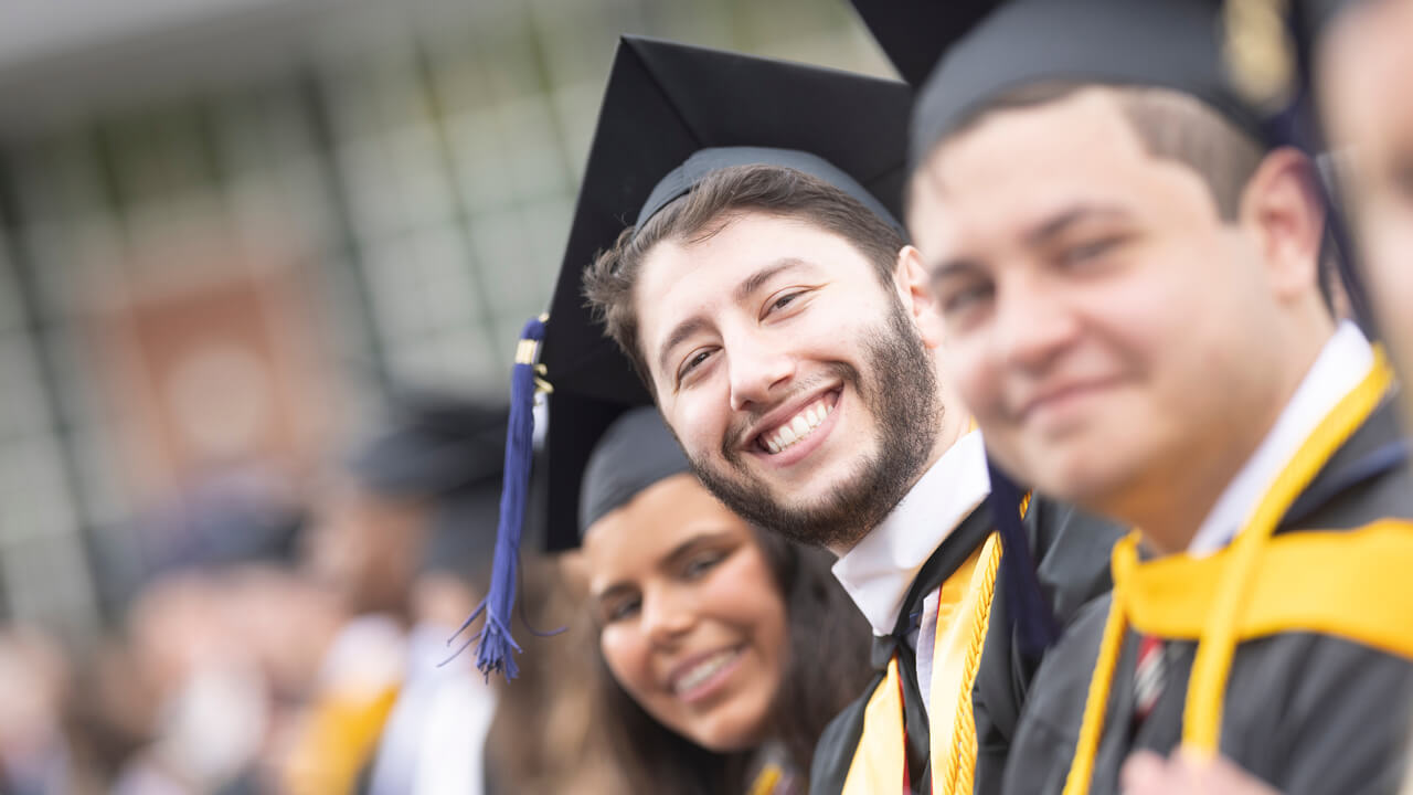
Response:
M1115 99L1150 156L1174 160L1195 171L1222 221L1236 219L1242 192L1266 157L1266 147L1211 105L1176 89L1074 81L1030 83L988 102L941 140L975 127L992 112L1048 105L1091 88L1104 89ZM933 144L934 151L940 143Z

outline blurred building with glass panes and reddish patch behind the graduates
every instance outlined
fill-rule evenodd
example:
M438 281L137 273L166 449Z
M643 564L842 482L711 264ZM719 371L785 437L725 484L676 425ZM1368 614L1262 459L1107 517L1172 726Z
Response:
M499 395L620 33L889 74L842 0L10 0L0 618L287 543L406 389Z

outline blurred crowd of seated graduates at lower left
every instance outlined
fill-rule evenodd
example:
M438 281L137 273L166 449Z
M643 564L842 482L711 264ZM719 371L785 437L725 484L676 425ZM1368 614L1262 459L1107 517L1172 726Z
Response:
M4 628L0 792L616 791L592 655L528 637L506 689L454 638L486 587L503 434L421 402L302 492L215 484L164 512L189 543L110 629ZM578 566L523 560L526 621L584 631Z

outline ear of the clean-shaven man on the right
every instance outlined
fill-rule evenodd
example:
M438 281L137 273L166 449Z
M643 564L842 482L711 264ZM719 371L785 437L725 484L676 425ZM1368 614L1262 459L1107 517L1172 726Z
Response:
M1284 147L1266 156L1242 192L1241 224L1255 233L1272 287L1282 298L1320 290L1325 211L1314 164Z

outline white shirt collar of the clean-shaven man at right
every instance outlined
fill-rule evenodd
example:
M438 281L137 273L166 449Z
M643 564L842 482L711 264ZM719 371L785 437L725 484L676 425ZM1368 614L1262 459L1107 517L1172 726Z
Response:
M1373 348L1356 325L1340 324L1320 351L1316 364L1296 388L1276 424L1226 485L1188 545L1188 555L1211 555L1236 536L1256 502L1304 440L1373 366Z

